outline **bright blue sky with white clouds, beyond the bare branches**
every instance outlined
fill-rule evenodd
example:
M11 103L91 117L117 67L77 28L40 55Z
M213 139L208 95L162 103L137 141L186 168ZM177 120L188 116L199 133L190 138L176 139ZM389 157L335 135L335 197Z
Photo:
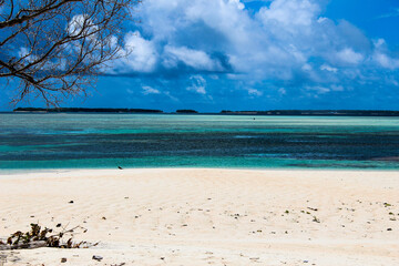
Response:
M144 0L133 14L130 55L62 106L399 110L397 0Z

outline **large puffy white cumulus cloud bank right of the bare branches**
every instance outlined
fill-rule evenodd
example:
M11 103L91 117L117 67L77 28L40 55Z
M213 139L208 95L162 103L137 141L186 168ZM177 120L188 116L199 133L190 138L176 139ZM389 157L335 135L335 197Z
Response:
M282 95L301 89L342 92L347 83L361 86L377 80L376 69L399 69L399 59L382 39L372 41L348 21L323 14L325 1L258 1L262 8L249 11L250 2L143 1L137 12L142 23L125 38L132 52L115 64L114 73L185 79L184 91L211 94L207 74L209 83L229 80L242 92L256 83L247 96L266 96L267 90L282 86ZM162 88L152 88L162 93Z

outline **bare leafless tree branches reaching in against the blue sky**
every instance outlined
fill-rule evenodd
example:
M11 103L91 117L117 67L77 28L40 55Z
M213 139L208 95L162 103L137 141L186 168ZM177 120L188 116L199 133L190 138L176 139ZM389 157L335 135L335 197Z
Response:
M58 105L85 95L108 62L123 57L121 29L140 0L0 0L0 78Z

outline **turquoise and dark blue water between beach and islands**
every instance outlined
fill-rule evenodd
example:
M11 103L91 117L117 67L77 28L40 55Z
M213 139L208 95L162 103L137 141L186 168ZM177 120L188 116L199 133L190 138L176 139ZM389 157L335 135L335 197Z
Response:
M399 168L399 119L0 114L0 170Z

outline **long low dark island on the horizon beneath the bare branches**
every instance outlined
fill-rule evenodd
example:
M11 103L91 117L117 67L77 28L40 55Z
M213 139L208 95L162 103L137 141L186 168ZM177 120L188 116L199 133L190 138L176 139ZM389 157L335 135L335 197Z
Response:
M13 112L47 112L47 113L163 113L152 109L84 109L84 108L18 108Z

